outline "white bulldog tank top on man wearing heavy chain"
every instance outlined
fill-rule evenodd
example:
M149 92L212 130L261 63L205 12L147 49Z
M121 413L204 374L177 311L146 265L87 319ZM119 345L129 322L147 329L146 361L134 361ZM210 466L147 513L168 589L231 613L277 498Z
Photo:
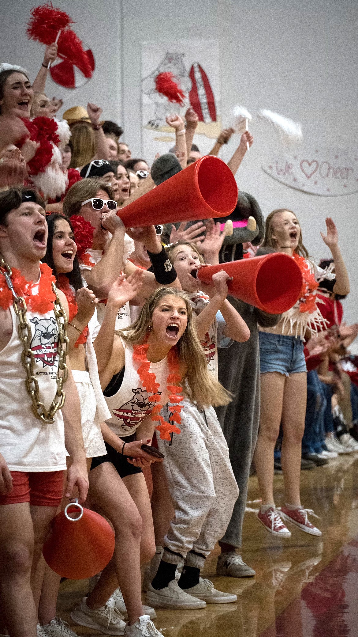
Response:
M12 334L0 352L0 453L10 471L60 471L66 468L62 413L58 410L55 422L45 424L32 412L21 362L23 345L18 338L18 318L13 306L10 306L10 312ZM27 310L26 318L32 333L34 375L39 383L40 399L48 409L57 389L59 330L55 313L53 310L46 314Z

